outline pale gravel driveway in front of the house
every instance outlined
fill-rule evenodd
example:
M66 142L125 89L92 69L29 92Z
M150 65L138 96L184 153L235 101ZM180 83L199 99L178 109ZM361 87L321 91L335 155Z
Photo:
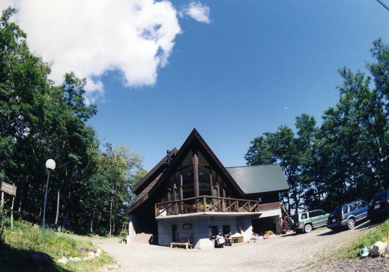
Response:
M92 242L116 260L102 271L376 271L389 270L389 259L336 260L338 250L363 235L369 223L353 230L331 232L320 228L310 233L273 236L224 248L171 249L148 244L120 244L119 239L93 238ZM367 268L370 269L367 269Z

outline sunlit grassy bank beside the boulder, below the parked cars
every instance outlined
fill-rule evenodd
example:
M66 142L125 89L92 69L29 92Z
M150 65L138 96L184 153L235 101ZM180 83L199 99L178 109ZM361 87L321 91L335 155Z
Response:
M384 221L378 228L368 232L366 235L357 238L350 246L340 251L340 258L357 258L362 247L371 247L377 241L389 243L389 219Z

